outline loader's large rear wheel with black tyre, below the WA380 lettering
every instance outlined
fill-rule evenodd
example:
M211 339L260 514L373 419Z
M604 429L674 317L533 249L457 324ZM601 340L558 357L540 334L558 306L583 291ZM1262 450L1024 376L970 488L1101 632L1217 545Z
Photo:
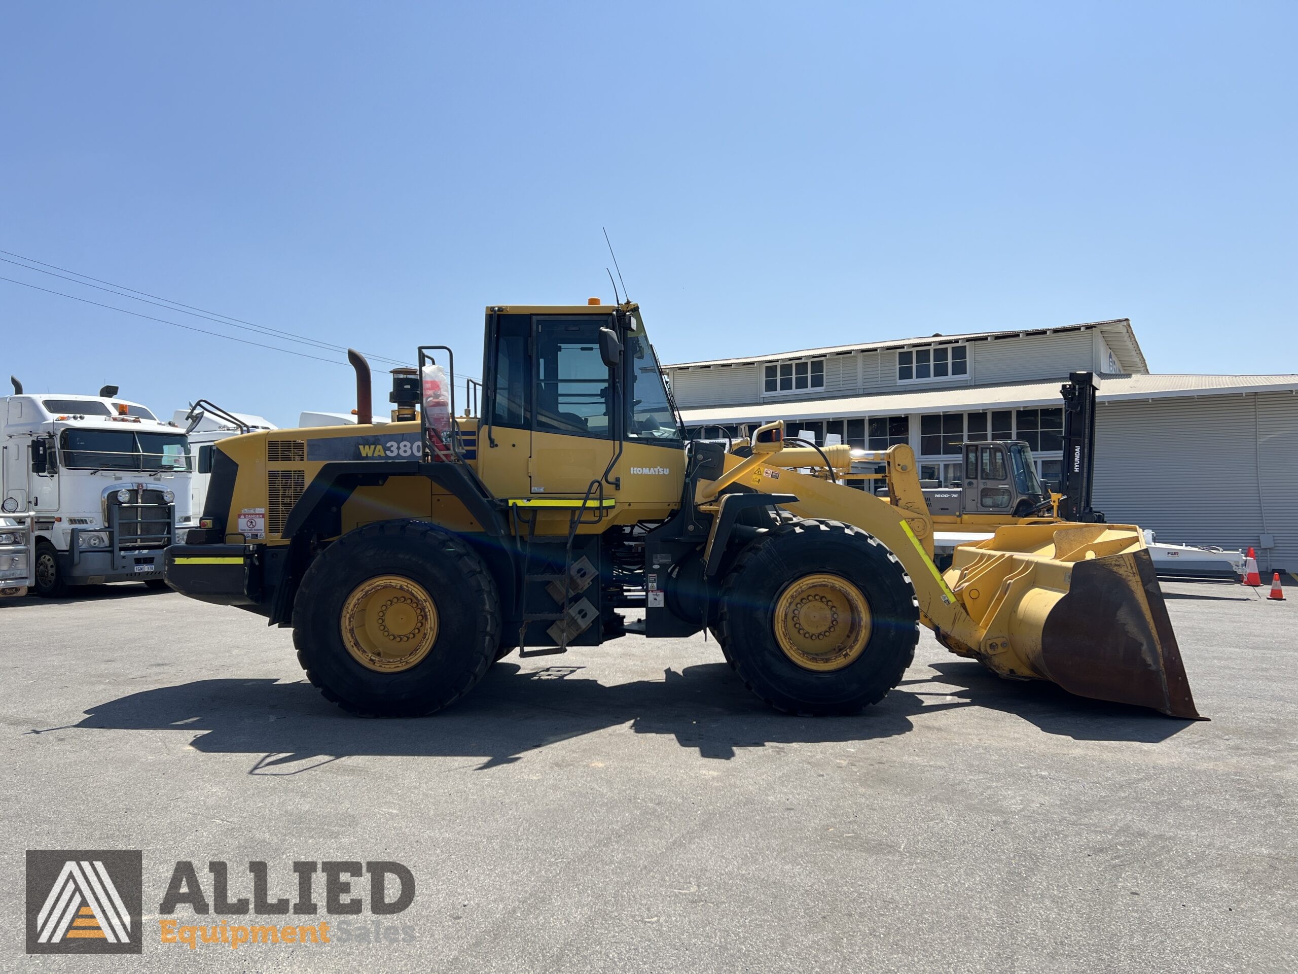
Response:
M422 717L454 703L487 673L500 631L482 558L419 521L343 535L312 562L293 603L306 678L362 716Z

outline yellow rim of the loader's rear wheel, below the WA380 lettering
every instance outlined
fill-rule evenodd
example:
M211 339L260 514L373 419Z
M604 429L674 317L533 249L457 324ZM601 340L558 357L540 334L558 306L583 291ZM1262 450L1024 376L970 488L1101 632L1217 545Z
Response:
M343 603L343 644L362 666L400 673L417 666L437 642L437 605L418 582L379 575Z

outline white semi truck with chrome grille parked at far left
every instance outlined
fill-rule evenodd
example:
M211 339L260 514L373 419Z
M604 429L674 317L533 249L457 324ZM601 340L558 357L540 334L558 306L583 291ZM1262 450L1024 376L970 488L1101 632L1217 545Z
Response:
M105 386L97 396L0 397L0 513L32 516L38 595L144 582L162 588L162 552L191 521L184 431Z

